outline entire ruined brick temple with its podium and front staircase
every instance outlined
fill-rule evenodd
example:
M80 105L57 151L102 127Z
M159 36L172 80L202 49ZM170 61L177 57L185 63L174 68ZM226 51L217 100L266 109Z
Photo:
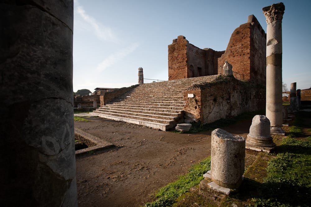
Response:
M200 49L180 35L168 46L168 73L169 81L101 95L101 107L92 114L165 131L179 123L207 124L264 109L266 34L250 15L225 51Z

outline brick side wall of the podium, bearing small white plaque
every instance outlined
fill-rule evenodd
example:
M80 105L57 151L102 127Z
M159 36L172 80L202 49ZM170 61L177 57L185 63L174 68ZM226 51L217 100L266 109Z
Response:
M194 94L188 98L188 94ZM244 112L265 109L266 91L255 84L239 81L233 76L220 76L206 85L196 85L184 91L184 114L188 122L208 124L218 119Z

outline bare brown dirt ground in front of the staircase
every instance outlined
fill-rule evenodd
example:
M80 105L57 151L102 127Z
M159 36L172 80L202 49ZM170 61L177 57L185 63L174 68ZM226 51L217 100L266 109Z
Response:
M142 206L151 201L150 195L157 189L211 155L211 132L179 134L103 118L88 119L75 121L75 127L115 147L76 157L78 206ZM223 129L246 137L251 121Z

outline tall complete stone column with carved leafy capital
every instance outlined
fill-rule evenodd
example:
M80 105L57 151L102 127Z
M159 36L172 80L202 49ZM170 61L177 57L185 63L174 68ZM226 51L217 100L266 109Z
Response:
M262 8L267 21L267 101L266 116L272 134L284 134L282 116L282 18L284 4ZM284 134L285 135L285 134Z

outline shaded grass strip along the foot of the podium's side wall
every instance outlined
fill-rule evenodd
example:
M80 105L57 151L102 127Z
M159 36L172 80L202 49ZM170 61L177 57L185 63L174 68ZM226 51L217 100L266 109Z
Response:
M229 126L235 123L238 123L239 121L243 121L245 119L252 119L255 115L265 115L266 111L265 110L258 110L258 111L253 111L253 112L247 112L247 113L243 113L240 114L238 116L235 117L229 117L226 119L219 119L213 123L210 124L202 124L200 121L198 122L193 122L192 127L190 128L191 133L197 133L197 132L201 132L201 131L212 131L216 128L222 128L225 126Z

